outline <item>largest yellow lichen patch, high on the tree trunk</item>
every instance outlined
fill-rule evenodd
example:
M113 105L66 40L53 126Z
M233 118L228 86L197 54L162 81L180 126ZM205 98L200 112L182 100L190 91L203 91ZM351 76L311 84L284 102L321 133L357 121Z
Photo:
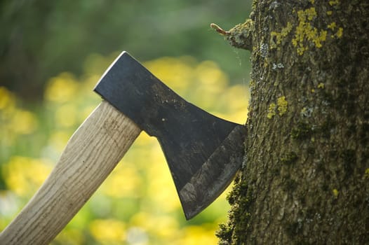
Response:
M316 27L312 26L311 20L316 18L315 8L298 10L297 18L299 25L296 27L295 38L292 40L293 45L297 47L297 53L302 55L304 51L308 49L308 45L305 45L306 41L311 41L316 48L321 48L323 46L322 42L326 41L327 31L318 30Z

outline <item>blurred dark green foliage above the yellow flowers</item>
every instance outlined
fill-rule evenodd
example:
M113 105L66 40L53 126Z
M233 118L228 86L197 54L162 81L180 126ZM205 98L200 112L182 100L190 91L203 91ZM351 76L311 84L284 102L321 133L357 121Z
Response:
M41 99L51 76L79 76L91 53L127 50L139 60L192 55L211 59L232 80L248 76L238 54L210 29L243 22L250 1L4 0L0 2L0 85ZM237 52L237 51L236 51ZM241 62L241 60L245 62Z

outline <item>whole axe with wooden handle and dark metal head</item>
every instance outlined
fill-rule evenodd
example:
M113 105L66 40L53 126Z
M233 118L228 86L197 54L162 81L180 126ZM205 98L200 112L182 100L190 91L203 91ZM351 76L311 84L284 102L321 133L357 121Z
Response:
M95 92L101 104L74 132L41 188L1 232L0 244L53 240L142 130L159 140L187 220L208 207L241 167L245 127L186 102L128 52L109 66Z

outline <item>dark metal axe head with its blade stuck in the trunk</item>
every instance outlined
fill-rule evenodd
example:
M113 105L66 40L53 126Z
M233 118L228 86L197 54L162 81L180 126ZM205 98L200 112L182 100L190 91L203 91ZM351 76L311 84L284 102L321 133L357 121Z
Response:
M159 140L187 220L208 207L241 167L245 127L186 102L128 52L95 92Z

